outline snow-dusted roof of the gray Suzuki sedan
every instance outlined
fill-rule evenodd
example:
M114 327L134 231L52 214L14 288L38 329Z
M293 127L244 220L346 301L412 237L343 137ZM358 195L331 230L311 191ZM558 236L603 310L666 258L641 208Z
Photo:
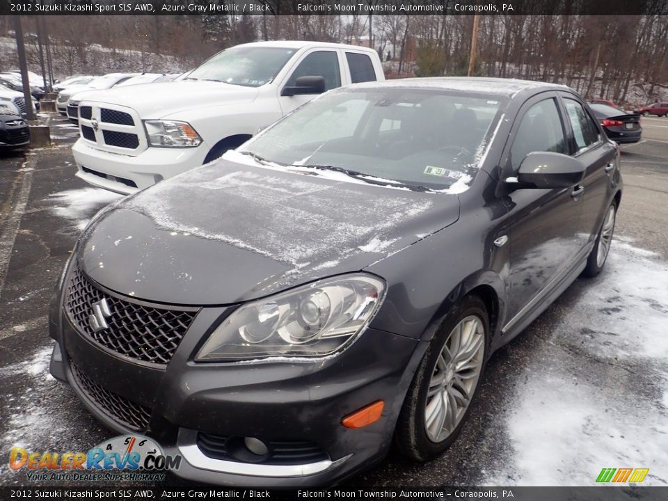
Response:
M513 97L523 90L571 90L560 84L548 82L518 79L502 79L487 77L427 77L409 78L397 80L385 80L381 82L367 82L355 84L355 88L368 87L401 87L401 88L433 88L442 90L461 90L465 92L504 95Z

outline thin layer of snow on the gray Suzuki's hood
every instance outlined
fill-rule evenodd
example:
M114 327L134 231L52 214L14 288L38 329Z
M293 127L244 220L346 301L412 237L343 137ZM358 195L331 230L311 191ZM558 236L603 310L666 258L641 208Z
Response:
M225 172L212 165L157 184L125 207L150 217L161 230L223 241L298 270L309 262L359 253L358 247L374 238L389 241L392 229L408 227L433 205L429 197L413 192L384 193L369 198L348 183Z

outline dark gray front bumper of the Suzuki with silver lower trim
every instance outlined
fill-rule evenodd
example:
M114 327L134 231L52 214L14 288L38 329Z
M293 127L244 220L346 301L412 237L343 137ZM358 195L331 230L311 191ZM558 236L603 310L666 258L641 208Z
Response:
M57 344L51 374L72 385L84 405L107 427L136 433L113 419L74 376L85 372L122 399L150 408L148 430L167 454L183 456L175 475L235 486L333 484L385 456L415 367L426 349L418 340L367 329L329 359L312 362L195 363L193 354L225 308L205 308L191 324L168 365L157 368L115 356L51 309ZM381 420L362 429L342 426L342 417L373 401L385 401ZM198 433L308 441L326 459L271 464L220 459L205 454Z

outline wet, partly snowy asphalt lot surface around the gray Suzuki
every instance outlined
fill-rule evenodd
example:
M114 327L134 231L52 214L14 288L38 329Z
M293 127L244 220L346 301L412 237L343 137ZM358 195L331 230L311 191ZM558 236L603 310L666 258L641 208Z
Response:
M668 485L665 126L644 121L648 139L623 148L605 271L495 353L450 451L423 465L392 452L349 486L592 485L621 467ZM86 451L114 435L48 374L51 288L88 218L116 198L74 177L77 129L63 118L51 129L56 146L0 157L0 485L26 484L8 468L11 447Z

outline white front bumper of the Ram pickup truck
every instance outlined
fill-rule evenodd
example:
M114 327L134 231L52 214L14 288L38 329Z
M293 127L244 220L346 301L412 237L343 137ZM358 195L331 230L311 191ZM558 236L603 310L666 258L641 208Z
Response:
M124 195L201 166L208 150L202 143L197 148L147 148L131 157L98 150L81 138L72 146L77 177Z

